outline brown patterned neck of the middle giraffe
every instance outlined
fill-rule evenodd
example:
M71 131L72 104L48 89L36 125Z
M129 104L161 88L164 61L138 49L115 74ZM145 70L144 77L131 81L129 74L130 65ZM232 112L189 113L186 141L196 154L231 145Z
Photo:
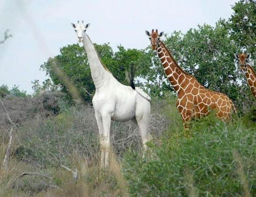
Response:
M169 50L163 44L162 41L158 44L157 48L158 56L162 62L165 74L174 87L177 94L181 89L184 89L188 85L188 81L192 78L188 73L186 73L172 57Z

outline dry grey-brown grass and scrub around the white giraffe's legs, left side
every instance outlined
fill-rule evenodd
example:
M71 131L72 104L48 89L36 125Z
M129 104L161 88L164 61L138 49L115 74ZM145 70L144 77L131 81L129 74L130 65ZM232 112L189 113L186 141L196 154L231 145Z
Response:
M20 102L23 102L23 98ZM60 115L51 114L48 118L42 116L44 110L39 110L33 121L29 121L30 117L26 113L30 111L30 105L28 103L22 111L12 111L12 102L7 104L11 118L19 124L16 127L9 170L5 176L0 176L0 196L129 196L120 162L127 150L141 151L140 134L133 123L112 122L111 165L109 169L102 170L98 165L98 127L91 106L69 108ZM40 102L37 105L41 106ZM21 114L22 119L16 119ZM166 128L165 117L157 108L152 109L151 134L157 138ZM6 131L6 128L2 128L3 130ZM8 140L5 134L7 132L0 135L1 162ZM60 164L73 170L77 168L79 179L74 181L72 174L60 168ZM40 176L23 176L17 179L23 172L45 174L53 177L54 181Z

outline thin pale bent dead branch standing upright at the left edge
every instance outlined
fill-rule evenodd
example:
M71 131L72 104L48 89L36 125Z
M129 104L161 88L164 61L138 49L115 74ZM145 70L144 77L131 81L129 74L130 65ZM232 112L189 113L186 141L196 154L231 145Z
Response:
M0 103L2 104L2 108L5 111L7 119L11 123L11 130L9 132L9 142L8 142L8 146L7 146L7 149L6 149L5 158L4 158L4 161L3 161L3 167L4 167L5 171L7 171L7 169L8 169L8 161L9 161L9 157L10 157L10 154L11 154L14 123L13 123L12 119L10 118L9 113L7 112L7 110L6 110L5 106L4 106L4 102L1 99L0 99Z

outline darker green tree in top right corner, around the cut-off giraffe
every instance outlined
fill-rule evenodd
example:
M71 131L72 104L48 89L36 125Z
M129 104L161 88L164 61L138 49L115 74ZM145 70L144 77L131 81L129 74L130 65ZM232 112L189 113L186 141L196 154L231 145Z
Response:
M240 0L232 6L234 13L226 25L230 32L230 39L237 45L234 53L251 53L251 66L256 64L256 0ZM243 111L251 110L255 99L247 85L244 74L239 72L240 92L238 94L238 105Z

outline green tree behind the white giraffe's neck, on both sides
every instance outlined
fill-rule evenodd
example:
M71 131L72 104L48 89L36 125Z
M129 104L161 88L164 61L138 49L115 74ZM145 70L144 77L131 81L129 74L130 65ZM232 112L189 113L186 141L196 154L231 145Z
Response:
M135 65L135 73L137 76L140 75L145 65L144 60L147 60L143 55L143 50L137 49L125 49L123 46L118 46L118 51L113 52L112 48L108 44L98 45L95 44L101 61L109 71L112 72L113 76L121 83L128 85L125 79L125 70L130 67L130 64ZM59 69L65 72L70 78L73 84L78 89L81 96L86 102L91 102L91 99L95 92L95 86L91 78L91 71L88 63L88 58L84 47L78 44L64 46L60 50L60 55L54 57L55 62ZM145 61L144 61L145 62ZM54 85L60 85L61 91L69 94L65 83L58 78L54 69L52 69L52 61L48 60L41 65L41 69L46 71L47 75L50 76ZM71 97L68 97L71 99Z

